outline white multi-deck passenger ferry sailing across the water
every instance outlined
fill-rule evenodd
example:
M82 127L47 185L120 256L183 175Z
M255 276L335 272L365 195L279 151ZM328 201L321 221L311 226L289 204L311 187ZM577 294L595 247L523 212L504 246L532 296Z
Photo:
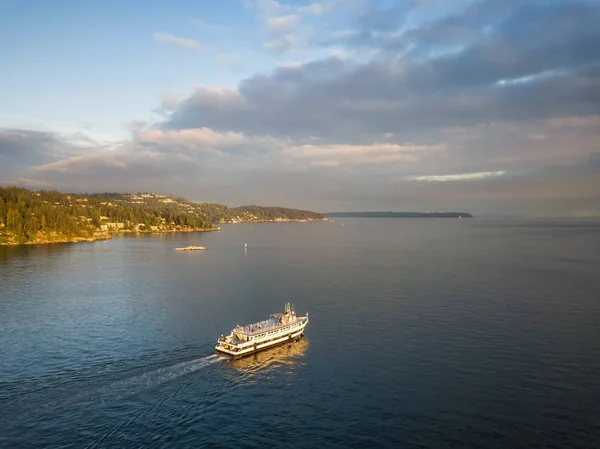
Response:
M283 313L274 313L268 320L236 326L229 335L221 335L215 352L233 358L254 354L263 349L300 340L308 324L306 316L298 317L290 303Z

